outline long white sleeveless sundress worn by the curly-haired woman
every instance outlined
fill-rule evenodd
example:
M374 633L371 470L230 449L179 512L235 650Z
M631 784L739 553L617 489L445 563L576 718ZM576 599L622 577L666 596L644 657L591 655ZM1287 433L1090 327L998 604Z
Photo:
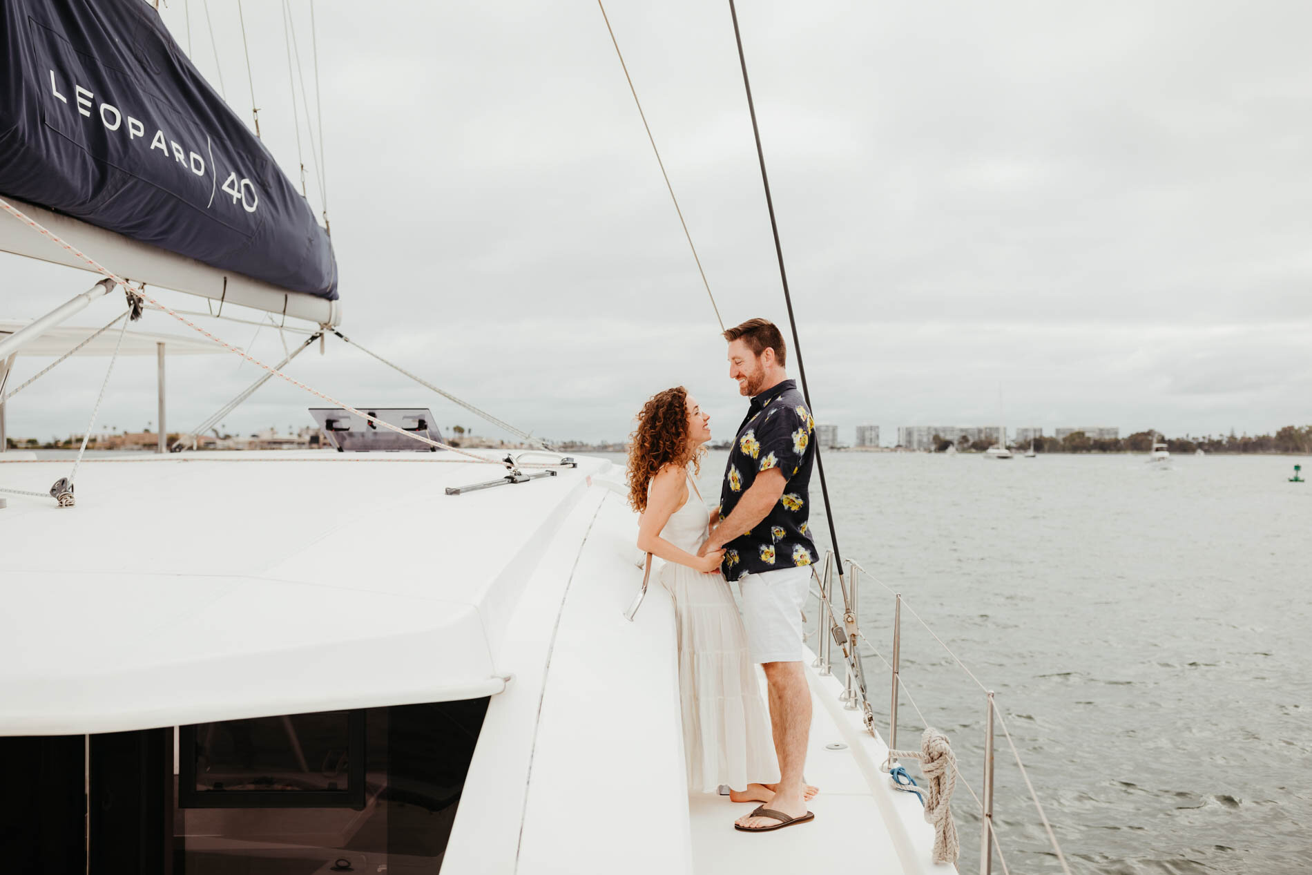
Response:
M691 474L687 481L687 501L670 514L660 537L695 556L711 514ZM719 572L703 575L673 561L661 567L660 581L674 598L689 791L775 783L779 763L770 718L728 581Z

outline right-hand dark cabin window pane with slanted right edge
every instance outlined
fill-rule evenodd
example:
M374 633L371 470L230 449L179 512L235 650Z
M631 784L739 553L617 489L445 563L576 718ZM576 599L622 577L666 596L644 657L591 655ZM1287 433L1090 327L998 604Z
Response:
M180 728L173 875L437 872L487 707L483 698Z

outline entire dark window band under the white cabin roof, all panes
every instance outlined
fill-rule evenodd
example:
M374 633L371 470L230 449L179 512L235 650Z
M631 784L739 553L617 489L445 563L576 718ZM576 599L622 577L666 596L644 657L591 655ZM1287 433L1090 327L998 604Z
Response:
M487 708L0 739L4 872L438 872Z

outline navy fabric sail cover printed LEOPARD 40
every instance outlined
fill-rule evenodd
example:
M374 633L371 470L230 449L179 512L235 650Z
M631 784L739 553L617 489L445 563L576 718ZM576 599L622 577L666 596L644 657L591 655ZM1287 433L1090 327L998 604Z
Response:
M337 264L310 205L155 9L0 3L0 194L337 298Z

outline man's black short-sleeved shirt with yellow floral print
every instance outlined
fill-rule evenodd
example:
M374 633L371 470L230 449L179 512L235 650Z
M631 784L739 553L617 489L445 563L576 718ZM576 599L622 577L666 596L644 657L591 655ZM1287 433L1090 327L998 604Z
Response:
M760 472L778 468L786 478L783 495L765 519L724 544L720 565L726 580L810 565L816 560L808 533L815 421L795 380L783 380L752 399L739 426L720 488L720 519L728 517Z

